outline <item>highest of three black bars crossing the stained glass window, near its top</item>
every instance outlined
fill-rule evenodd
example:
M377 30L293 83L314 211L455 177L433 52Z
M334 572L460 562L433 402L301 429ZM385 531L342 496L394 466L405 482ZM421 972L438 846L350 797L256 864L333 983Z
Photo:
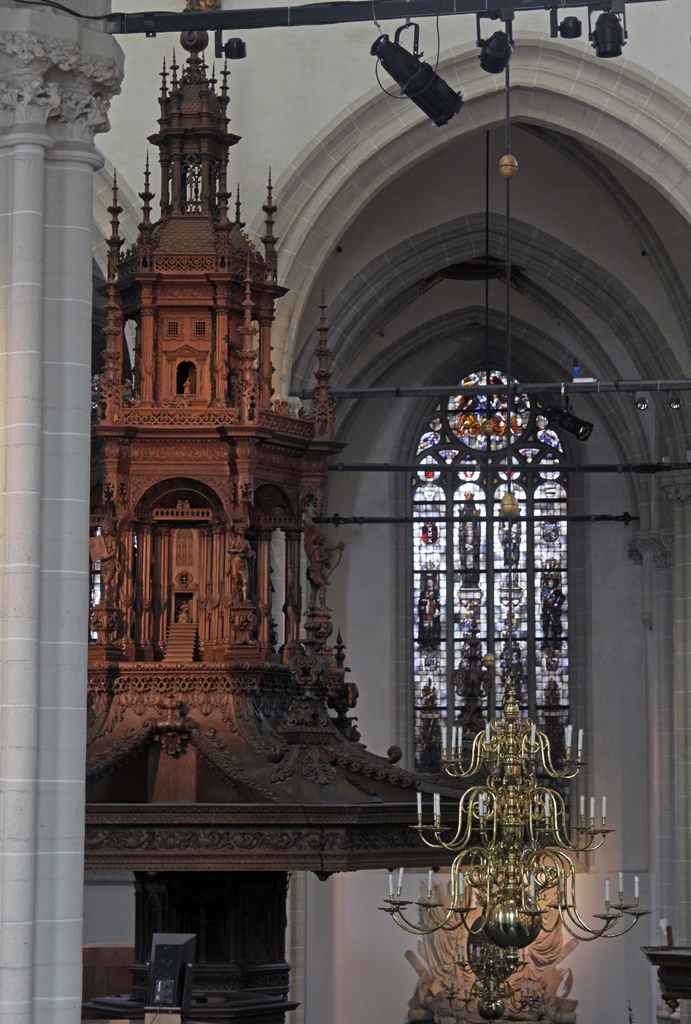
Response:
M511 390L514 394L600 394L610 392L690 391L691 378L683 380L650 381L548 381L543 384L449 384L425 385L420 387L343 387L332 388L334 398L436 398L447 394L504 394ZM294 398L313 398L313 388L291 391Z

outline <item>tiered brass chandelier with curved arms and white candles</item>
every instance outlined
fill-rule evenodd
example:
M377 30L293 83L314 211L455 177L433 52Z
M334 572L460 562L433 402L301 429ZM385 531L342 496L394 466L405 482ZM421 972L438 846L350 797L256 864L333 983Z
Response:
M427 896L414 905L419 920L406 914L411 901L402 898L403 872L389 874L389 898L383 907L395 923L413 934L429 934L466 926L474 905L481 915L473 922L474 935L481 933L488 951L478 958L464 959L458 944L458 966L476 976L473 995L477 1012L485 1020L496 1020L507 1000L520 1000L513 992L510 976L518 969L519 950L534 942L541 931L552 932L559 923L576 939L592 941L625 934L639 918L639 879L634 882L633 902L624 902L623 873L618 874L616 898L611 899L605 882L604 906L586 922L578 910L575 890L575 855L598 850L612 829L607 827L607 800L596 821L595 800L580 799L577 823L569 825L564 799L541 778L572 779L584 766L582 730L578 731L575 756L572 727L565 727L565 755L559 767L552 760L550 740L529 718L520 717L514 682L508 677L501 718L487 722L474 737L470 760L465 764L463 733L451 730L446 746L442 733L442 764L452 778L468 781L459 800L456 821L442 821L440 794L433 794L431 820L418 794L418 821L413 825L431 849L456 854L450 866L448 906L437 902L429 872ZM545 915L556 910L550 926ZM481 947L482 948L482 947ZM477 953L477 950L476 950ZM477 962L477 963L476 963Z

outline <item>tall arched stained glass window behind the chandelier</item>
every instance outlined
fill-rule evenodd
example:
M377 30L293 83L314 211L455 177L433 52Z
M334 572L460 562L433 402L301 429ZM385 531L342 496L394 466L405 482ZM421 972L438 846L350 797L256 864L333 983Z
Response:
M489 394L464 391L496 385ZM514 382L515 383L515 382ZM471 374L439 402L413 481L416 758L440 767L441 728L471 740L513 676L523 713L563 754L568 718L566 474L538 400ZM509 463L511 440L511 463ZM511 474L511 475L510 475ZM511 490L520 515L502 512ZM493 663L491 660L493 656Z

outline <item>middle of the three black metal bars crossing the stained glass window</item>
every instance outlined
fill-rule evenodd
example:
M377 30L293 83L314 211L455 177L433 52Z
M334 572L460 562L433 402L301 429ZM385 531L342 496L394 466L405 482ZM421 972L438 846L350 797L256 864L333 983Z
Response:
M455 465L431 462L332 462L327 466L327 469L331 473L418 473L425 470L435 473L462 473L469 469L484 471L486 468L487 465L484 462L464 462ZM489 468L494 472L501 473L507 472L509 466L507 463L491 463ZM590 466L581 463L555 462L553 464L526 463L525 465L514 463L512 466L512 470L518 473L546 473L552 471L564 473L640 473L643 476L654 476L655 473L671 473L673 471L688 471L690 468L691 464L687 462L598 462Z

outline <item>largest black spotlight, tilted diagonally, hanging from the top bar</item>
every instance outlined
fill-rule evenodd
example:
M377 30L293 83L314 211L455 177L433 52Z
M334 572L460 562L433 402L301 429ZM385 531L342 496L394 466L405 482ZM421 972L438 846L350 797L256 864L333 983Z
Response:
M394 41L388 36L380 36L372 45L370 52L377 57L382 68L391 76L400 91L440 128L445 125L463 106L463 96L455 92L437 75L433 68L421 60L416 53L411 53L398 42L398 36L407 26L401 26L396 31ZM415 48L418 48L418 26L416 29Z

